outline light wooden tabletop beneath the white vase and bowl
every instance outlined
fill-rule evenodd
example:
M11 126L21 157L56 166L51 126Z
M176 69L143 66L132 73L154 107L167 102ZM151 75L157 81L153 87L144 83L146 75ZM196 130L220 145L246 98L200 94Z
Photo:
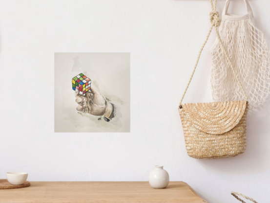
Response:
M31 182L31 181L30 181ZM0 190L0 203L207 203L185 182L153 189L148 182L31 182Z

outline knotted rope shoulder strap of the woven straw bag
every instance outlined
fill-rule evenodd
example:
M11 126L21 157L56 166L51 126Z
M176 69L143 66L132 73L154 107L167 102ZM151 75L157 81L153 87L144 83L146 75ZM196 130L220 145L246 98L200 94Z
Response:
M219 42L219 44L220 44L220 46L221 46L221 48L222 48L223 53L224 53L225 56L226 56L226 59L227 59L228 64L229 64L229 67L231 68L231 70L232 70L232 72L233 72L233 75L234 75L234 77L236 78L236 81L237 81L238 85L240 86L240 89L242 90L242 92L243 92L243 94L244 94L244 96L245 96L245 100L248 101L247 94L246 94L245 90L243 89L243 86L242 86L242 84L240 83L239 78L237 77L234 68L232 67L231 61L230 61L230 59L229 59L229 57L228 57L228 53L227 53L227 51L226 51L224 45L222 44L221 39L220 39L220 36L219 36L219 33L218 33L217 27L220 25L220 19L219 19L219 13L216 11L217 0L209 0L209 1L210 1L211 8L212 8L212 11L210 12L210 22L211 22L211 27L210 27L210 29L209 29L209 31L208 31L208 34L207 34L207 37L206 37L205 42L203 43L203 45L202 45L202 47L201 47L201 49L200 49L200 51L199 51L199 54L198 54L198 57L197 57L195 66L194 66L194 68L193 68L193 71L192 71L191 76L190 76L190 78L189 78L189 81L188 81L188 83L187 83L187 87L186 87L186 89L185 89L185 91L184 91L184 93L183 93L183 95L182 95L182 98L181 98L181 100L180 100L180 102L179 102L179 108L180 108L180 109L182 109L182 106L181 106L182 101L183 101L183 99L184 99L184 97L185 97L185 94L186 94L186 92L187 92L188 86L189 86L189 84L190 84L190 82L191 82L191 79L192 79L192 77L193 77L193 75L194 75L194 72L195 72L195 70L196 70L196 67L197 67L197 65L198 65L198 62L199 62L201 53L202 53L202 51L203 51L203 49L204 49L204 47L205 47L205 45L206 45L206 43L207 43L207 41L208 41L209 35L210 35L210 33L211 33L213 27L215 27L215 31L216 31L216 36L217 36L218 42Z

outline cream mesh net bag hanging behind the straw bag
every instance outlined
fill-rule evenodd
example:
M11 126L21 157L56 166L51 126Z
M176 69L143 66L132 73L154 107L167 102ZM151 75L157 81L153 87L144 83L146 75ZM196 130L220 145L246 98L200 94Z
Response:
M219 33L247 93L249 108L252 109L263 105L270 93L270 51L264 34L254 25L249 2L244 1L248 14L236 16L227 14L230 0L226 0ZM216 102L241 100L242 91L217 40L209 52L212 55L213 100Z

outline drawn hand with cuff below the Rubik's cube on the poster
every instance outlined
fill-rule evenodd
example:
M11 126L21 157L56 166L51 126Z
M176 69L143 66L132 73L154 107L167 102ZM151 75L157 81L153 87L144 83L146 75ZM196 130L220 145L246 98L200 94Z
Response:
M92 86L84 96L79 94L79 90L75 90L75 96L76 102L79 104L76 108L77 111L97 116L104 115L106 121L109 121L113 117L113 105L108 103L106 98Z

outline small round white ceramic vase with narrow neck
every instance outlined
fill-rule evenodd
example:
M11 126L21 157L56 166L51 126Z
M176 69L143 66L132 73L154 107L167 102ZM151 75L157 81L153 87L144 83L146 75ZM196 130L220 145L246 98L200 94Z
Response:
M155 166L149 174L149 184L156 189L165 188L169 184L169 174L163 166Z

